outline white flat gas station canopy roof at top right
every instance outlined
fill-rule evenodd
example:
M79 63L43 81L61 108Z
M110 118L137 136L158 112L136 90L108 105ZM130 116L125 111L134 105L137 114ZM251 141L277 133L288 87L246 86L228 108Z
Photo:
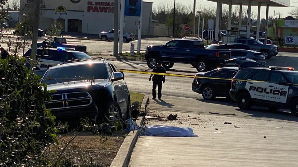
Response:
M232 1L232 5L239 5L242 3L242 5L248 5L248 2L251 1L252 6L258 6L259 2L261 2L261 6L266 6L267 4L269 6L275 6L275 7L289 7L290 6L290 0L207 0L212 2L221 2L223 4L229 4Z

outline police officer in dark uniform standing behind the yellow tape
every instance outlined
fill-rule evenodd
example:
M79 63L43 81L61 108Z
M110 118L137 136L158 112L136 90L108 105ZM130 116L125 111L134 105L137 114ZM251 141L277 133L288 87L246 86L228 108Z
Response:
M165 68L161 66L161 61L157 62L157 66L155 66L152 70L152 72L156 73L166 73ZM149 81L151 81L151 77L153 74L150 75ZM156 98L156 85L158 87L158 99L161 98L161 85L162 83L165 83L165 75L153 75L153 86L152 86L152 99ZM161 83L162 82L162 83Z

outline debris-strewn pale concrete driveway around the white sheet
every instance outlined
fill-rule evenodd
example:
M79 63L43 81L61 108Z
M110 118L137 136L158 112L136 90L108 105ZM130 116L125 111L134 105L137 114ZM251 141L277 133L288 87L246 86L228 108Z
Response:
M188 126L199 137L140 137L129 166L298 166L296 121L162 111L150 105L152 100L148 115L162 119L148 125ZM167 120L169 114L178 114L178 120Z

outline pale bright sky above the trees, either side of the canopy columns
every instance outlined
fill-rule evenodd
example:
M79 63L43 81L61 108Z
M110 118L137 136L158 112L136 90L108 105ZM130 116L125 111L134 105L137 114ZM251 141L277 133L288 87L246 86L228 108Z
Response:
M153 2L153 8L158 5L166 5L166 4L174 4L174 0L143 0L146 2ZM184 5L193 6L193 0L176 0L176 3L182 3ZM196 0L196 6L213 6L216 7L215 2L207 1L207 0ZM298 0L290 0L290 6L297 6L298 7ZM273 16L274 11L275 13L279 13L280 11L280 18L287 17L289 14L289 11L291 9L294 9L295 7L269 7L269 16ZM251 11L257 15L258 7L252 6ZM279 14L278 14L279 15ZM266 7L261 7L261 18L266 17ZM275 14L276 17L276 14Z

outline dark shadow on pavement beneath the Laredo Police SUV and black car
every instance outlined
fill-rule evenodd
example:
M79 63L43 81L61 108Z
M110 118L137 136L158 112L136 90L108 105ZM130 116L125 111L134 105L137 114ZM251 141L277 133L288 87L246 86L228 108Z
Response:
M278 109L277 111L274 111L274 110L269 110L267 107L253 105L250 110L243 110L237 107L236 102L231 103L229 99L225 99L225 98L216 98L215 101L209 101L204 99L196 99L196 100L205 102L205 103L236 107L237 108L235 109L236 115L239 115L237 114L237 111L238 111L238 112L246 113L247 114L246 116L253 117L253 118L273 118L278 120L298 122L298 117L292 115L290 112L286 112L286 111L289 111L287 109Z

